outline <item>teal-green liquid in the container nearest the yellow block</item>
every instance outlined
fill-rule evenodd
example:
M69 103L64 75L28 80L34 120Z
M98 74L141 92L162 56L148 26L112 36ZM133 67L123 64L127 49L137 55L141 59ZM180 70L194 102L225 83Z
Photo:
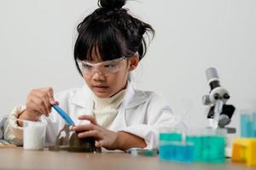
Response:
M225 139L221 136L202 136L201 161L225 162Z

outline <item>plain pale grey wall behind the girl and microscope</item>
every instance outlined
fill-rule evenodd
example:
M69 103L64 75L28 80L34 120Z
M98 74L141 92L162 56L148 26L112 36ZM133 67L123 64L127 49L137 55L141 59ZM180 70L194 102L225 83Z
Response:
M0 116L25 104L32 88L82 86L76 26L96 7L96 0L0 0ZM164 96L189 127L206 127L201 97L214 66L237 108L230 126L239 132L240 110L256 106L255 7L253 0L128 1L125 8L156 31L133 73L137 88Z

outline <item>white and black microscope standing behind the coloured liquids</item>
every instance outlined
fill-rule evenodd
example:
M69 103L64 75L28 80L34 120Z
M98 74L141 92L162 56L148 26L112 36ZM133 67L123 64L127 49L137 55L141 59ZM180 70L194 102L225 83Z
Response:
M210 86L210 92L202 97L203 105L209 105L207 119L212 128L226 128L227 133L236 133L236 128L225 127L231 121L234 111L234 105L227 105L230 94L227 89L220 86L218 72L215 68L208 68L206 71L207 82Z

